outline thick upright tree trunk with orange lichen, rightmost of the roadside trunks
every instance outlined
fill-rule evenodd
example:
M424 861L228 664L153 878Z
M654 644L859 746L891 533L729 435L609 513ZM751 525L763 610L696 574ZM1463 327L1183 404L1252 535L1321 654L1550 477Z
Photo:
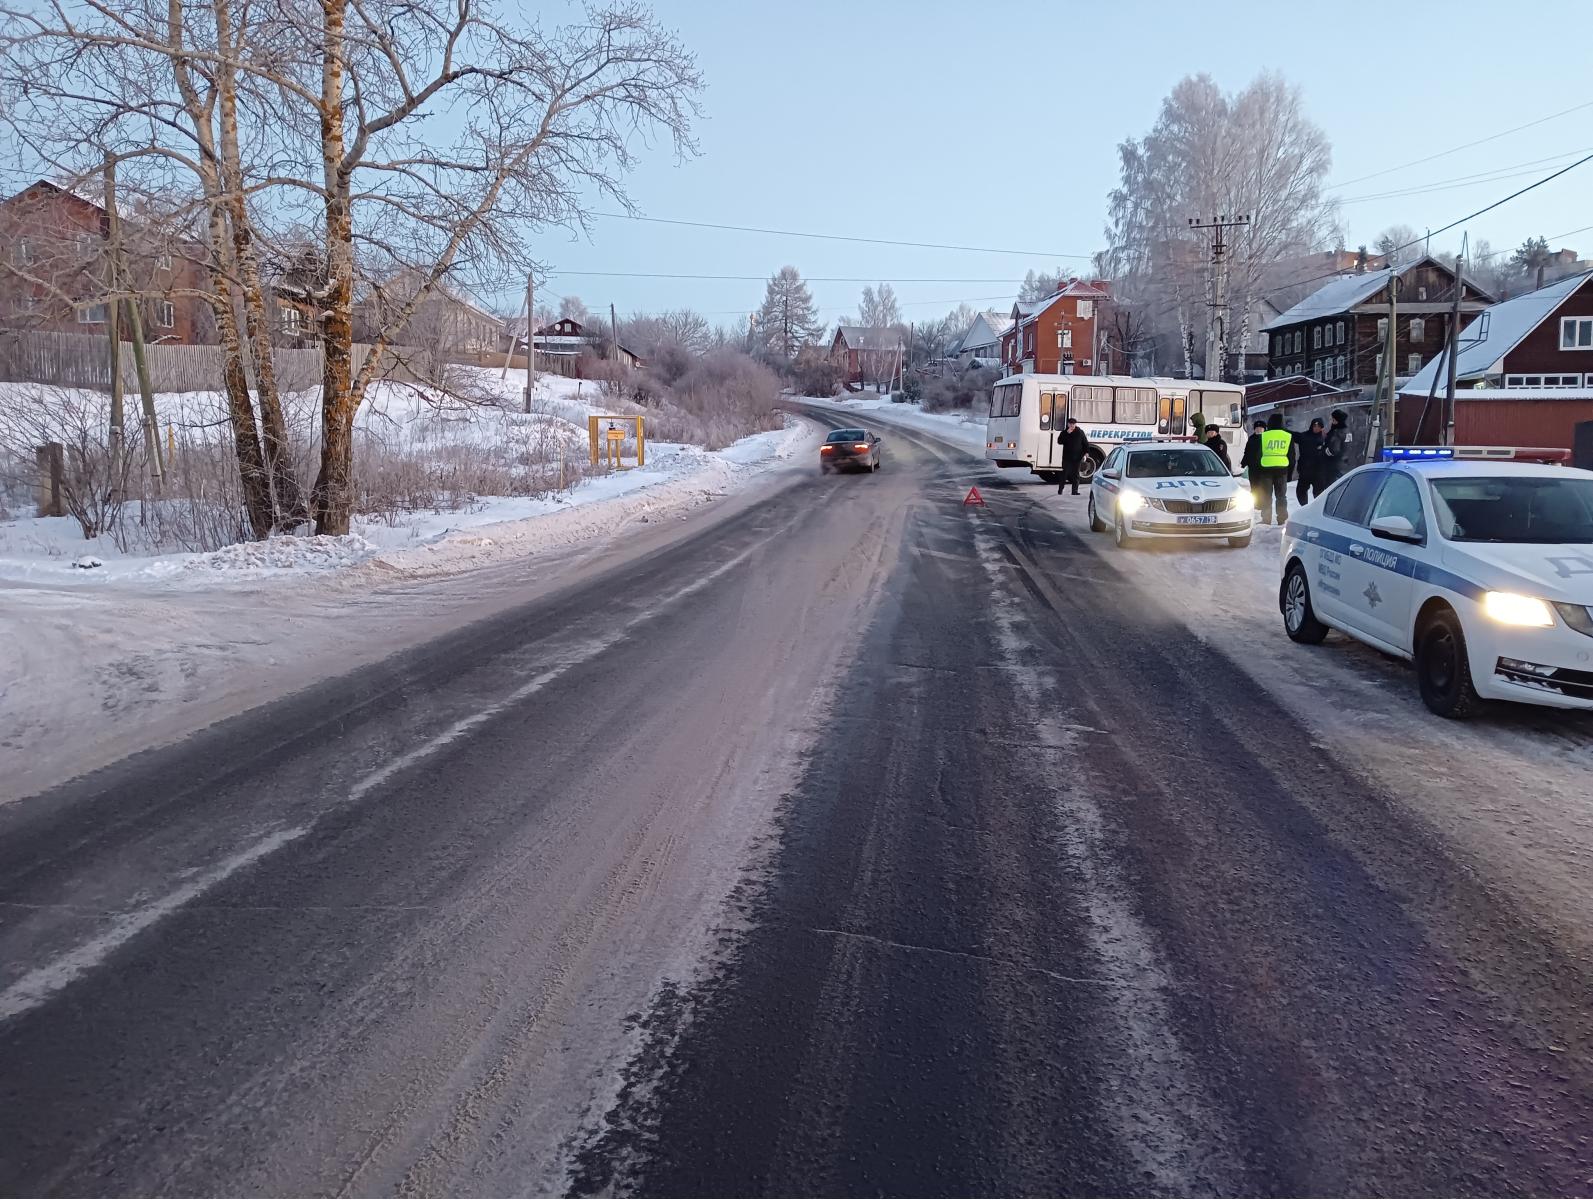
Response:
M344 171L342 27L347 0L322 0L320 151L325 175L327 296L322 301L320 472L311 494L317 534L349 532L354 515L354 215Z

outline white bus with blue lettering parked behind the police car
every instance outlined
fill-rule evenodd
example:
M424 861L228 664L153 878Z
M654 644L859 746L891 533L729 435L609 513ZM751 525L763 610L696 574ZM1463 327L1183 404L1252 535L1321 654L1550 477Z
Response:
M1222 427L1230 443L1243 443L1243 398L1239 384L1211 379L1010 375L997 379L991 390L984 457L997 467L1027 467L1047 483L1056 483L1063 476L1061 435L1070 416L1090 438L1090 456L1078 469L1078 476L1088 480L1101 459L1123 441L1195 433L1190 418L1196 413Z

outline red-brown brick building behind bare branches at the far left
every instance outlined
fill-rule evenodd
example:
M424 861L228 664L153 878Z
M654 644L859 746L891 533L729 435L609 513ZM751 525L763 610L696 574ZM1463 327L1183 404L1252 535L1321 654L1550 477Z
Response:
M145 339L213 343L202 247L159 239L132 215L121 234ZM100 204L46 180L0 201L0 327L104 335L107 236Z

